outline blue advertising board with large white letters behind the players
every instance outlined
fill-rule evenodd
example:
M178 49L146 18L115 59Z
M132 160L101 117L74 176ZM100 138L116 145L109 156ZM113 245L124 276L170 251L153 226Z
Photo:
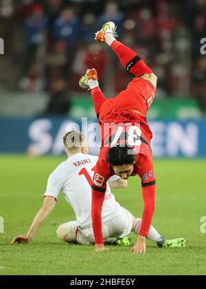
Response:
M154 157L206 157L206 120L155 120L149 124ZM86 117L81 121L66 117L0 118L0 152L62 154L62 137L72 129L86 133L89 152L98 154L99 125Z

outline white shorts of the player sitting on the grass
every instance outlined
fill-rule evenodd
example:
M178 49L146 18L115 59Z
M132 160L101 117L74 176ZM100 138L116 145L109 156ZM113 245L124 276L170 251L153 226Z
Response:
M74 227L76 227L76 241L82 245L94 244L94 235L93 228L88 227L84 229L80 229L77 226L76 221L68 222L67 229L69 231L74 231ZM122 208L121 213L119 215L113 217L111 219L102 223L102 233L104 240L108 238L123 238L128 235L130 231L133 229L133 215L127 210Z

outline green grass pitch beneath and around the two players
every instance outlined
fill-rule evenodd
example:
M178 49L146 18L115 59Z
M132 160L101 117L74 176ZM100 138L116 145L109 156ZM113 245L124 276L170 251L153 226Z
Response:
M206 216L206 160L201 159L155 159L152 224L166 238L185 238L185 248L157 248L147 241L146 254L132 254L130 248L120 246L95 253L93 246L65 244L56 238L56 228L75 216L63 196L31 244L10 244L15 235L27 233L43 203L47 176L64 159L0 156L0 216L5 221L5 232L0 233L0 275L206 274L206 233L200 231L201 216ZM113 192L122 206L141 216L140 181L131 177L128 182L128 188Z

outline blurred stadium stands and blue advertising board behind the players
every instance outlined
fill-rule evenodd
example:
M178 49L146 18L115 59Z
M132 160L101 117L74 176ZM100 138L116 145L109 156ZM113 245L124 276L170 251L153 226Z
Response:
M88 67L106 97L126 87L132 76L93 41L114 21L118 39L159 77L148 113L154 155L205 157L205 14L204 0L1 0L0 152L61 154L65 126L95 120L90 93L78 86Z

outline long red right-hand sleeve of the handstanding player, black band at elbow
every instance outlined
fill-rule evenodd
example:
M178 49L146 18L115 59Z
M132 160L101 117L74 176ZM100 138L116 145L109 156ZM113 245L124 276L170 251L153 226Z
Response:
M146 146L144 144L144 146ZM155 211L155 175L152 163L152 152L150 148L146 148L148 151L146 155L139 156L137 159L138 170L141 178L142 196L144 200L144 211L142 215L141 228L139 235L148 236L150 225L152 223L152 216Z

